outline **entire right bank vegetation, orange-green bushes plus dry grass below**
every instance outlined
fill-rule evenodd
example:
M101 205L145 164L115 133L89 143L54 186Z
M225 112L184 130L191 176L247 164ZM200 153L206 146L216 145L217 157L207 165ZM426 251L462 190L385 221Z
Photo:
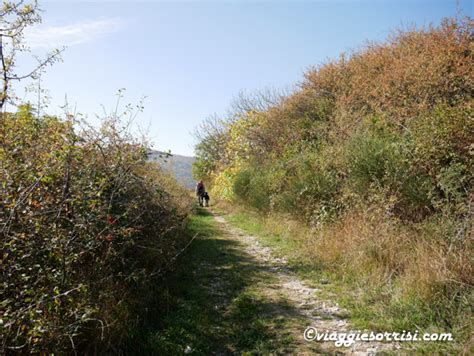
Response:
M241 99L202 126L194 165L220 199L304 222L303 254L385 330L452 330L465 350L473 39L470 18L398 31L308 70L290 95Z

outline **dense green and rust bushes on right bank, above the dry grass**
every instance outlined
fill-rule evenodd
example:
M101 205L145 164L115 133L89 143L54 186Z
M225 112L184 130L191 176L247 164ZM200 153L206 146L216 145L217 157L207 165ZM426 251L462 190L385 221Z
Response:
M466 214L472 40L471 19L446 19L311 69L277 104L221 120L218 135L207 131L196 166L207 162L206 178L225 199L301 216L299 206L309 221L374 195L402 219ZM218 155L206 154L209 141Z

